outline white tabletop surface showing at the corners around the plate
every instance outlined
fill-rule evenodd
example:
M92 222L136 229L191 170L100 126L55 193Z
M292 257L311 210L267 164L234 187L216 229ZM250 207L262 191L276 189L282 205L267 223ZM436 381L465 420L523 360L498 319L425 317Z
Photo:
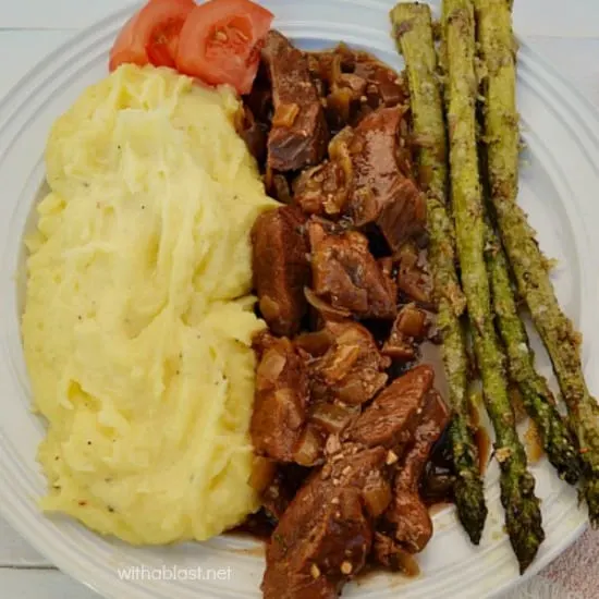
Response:
M135 3L0 0L0 98L75 30ZM515 27L521 38L599 107L599 0L515 0ZM541 596L530 594L528 588L512 597L540 599ZM0 517L0 598L98 599L98 596L53 570Z

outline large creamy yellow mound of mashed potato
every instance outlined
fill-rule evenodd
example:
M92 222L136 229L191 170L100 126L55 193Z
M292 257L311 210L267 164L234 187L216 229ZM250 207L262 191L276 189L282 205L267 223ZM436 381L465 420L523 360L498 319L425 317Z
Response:
M249 485L249 230L272 206L239 102L122 66L58 120L23 316L48 511L133 543L206 539Z

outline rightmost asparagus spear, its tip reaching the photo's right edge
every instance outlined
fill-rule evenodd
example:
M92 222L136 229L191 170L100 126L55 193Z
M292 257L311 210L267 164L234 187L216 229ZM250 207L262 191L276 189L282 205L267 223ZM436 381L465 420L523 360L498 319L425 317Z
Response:
M516 203L519 137L511 15L503 0L476 0L476 11L478 42L487 72L484 121L491 199L518 292L547 347L569 408L583 460L583 493L590 521L597 527L599 406L584 379L579 335L560 308L535 232Z

